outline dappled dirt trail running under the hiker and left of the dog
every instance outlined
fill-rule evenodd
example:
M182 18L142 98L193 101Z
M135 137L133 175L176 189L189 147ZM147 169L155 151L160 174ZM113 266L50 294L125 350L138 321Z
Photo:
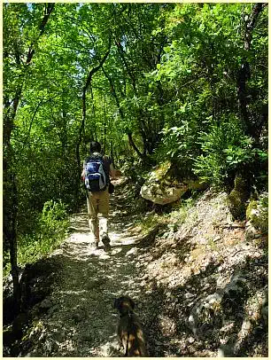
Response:
M48 298L52 306L42 319L41 344L28 356L120 356L113 300L125 293L142 306L135 255L139 239L129 231L133 218L123 219L123 201L125 194L112 195L108 253L102 243L97 249L89 243L86 211L74 215L74 232L51 254L61 270Z

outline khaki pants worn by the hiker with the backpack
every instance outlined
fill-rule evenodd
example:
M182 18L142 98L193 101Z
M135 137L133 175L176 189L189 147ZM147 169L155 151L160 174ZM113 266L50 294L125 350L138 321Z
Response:
M89 229L95 241L107 235L107 218L109 212L109 192L87 192Z

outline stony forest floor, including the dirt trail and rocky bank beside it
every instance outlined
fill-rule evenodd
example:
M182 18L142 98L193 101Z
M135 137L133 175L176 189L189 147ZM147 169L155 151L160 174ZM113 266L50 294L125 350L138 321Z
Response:
M213 357L223 346L230 355L267 356L267 238L245 239L244 223L230 220L224 194L205 192L185 221L151 210L142 215L122 180L111 197L112 250L90 244L86 207L73 215L68 239L28 270L27 316L12 324L21 339L10 340L4 356L123 356L113 309L123 294L136 302L150 356ZM147 231L143 217L152 219ZM244 279L241 290L236 277ZM202 305L217 293L216 307ZM195 309L207 314L191 325Z

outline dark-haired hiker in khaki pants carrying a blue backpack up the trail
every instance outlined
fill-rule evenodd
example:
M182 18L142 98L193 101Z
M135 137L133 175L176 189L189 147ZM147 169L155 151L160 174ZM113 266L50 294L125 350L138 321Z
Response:
M90 143L90 154L83 162L82 180L87 189L87 205L89 229L98 247L101 240L105 250L109 250L108 212L110 176L115 177L112 159L101 153L101 145L97 141Z

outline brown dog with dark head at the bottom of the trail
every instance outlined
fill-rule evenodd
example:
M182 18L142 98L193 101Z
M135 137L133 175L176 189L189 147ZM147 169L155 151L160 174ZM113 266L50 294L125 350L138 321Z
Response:
M114 308L120 312L117 333L125 356L148 356L143 328L134 313L135 302L128 296L121 296L114 301Z

